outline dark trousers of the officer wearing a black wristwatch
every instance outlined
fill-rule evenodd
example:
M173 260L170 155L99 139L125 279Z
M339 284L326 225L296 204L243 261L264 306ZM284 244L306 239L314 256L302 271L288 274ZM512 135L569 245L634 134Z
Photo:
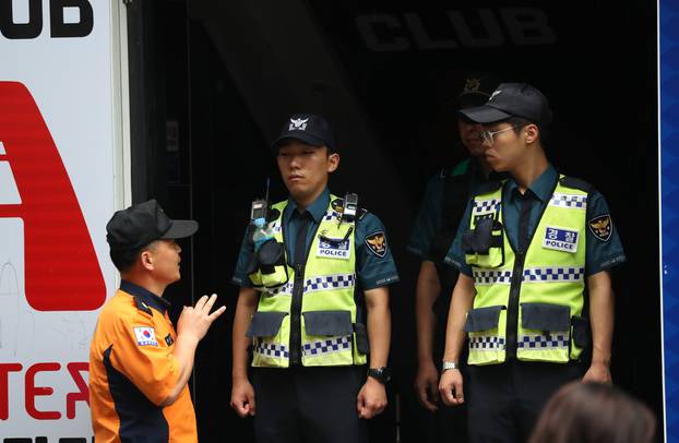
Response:
M365 373L357 367L257 368L257 442L367 443L366 422L356 409Z

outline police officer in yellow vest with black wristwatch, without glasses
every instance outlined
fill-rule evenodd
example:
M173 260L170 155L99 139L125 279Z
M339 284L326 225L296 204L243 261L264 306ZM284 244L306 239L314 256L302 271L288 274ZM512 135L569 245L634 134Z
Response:
M241 247L231 407L254 416L260 443L366 442L364 419L386 406L398 280L384 226L356 194L330 193L340 154L325 119L294 115L274 148L290 195L253 204Z

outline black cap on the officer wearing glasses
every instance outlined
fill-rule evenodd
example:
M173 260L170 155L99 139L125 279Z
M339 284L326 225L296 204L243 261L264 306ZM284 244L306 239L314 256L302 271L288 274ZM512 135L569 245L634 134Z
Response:
M547 97L527 83L502 83L485 105L461 109L460 113L477 123L493 123L512 117L538 124L551 122Z

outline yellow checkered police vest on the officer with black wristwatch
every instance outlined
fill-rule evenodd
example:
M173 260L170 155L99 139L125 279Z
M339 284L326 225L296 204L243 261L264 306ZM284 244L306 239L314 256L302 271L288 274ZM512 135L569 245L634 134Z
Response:
M337 197L332 195L331 202ZM279 211L272 222L275 238L283 242L282 217L287 201L273 205ZM305 367L365 364L366 355L356 347L356 243L353 224L338 223L341 214L329 206L314 236L305 268L301 306L301 363ZM332 244L320 239L341 240L352 227L346 242ZM287 262L287 260L286 260ZM287 266L288 282L275 289L262 288L252 319L254 367L289 366L290 306L295 270ZM265 326L255 326L255 324Z

